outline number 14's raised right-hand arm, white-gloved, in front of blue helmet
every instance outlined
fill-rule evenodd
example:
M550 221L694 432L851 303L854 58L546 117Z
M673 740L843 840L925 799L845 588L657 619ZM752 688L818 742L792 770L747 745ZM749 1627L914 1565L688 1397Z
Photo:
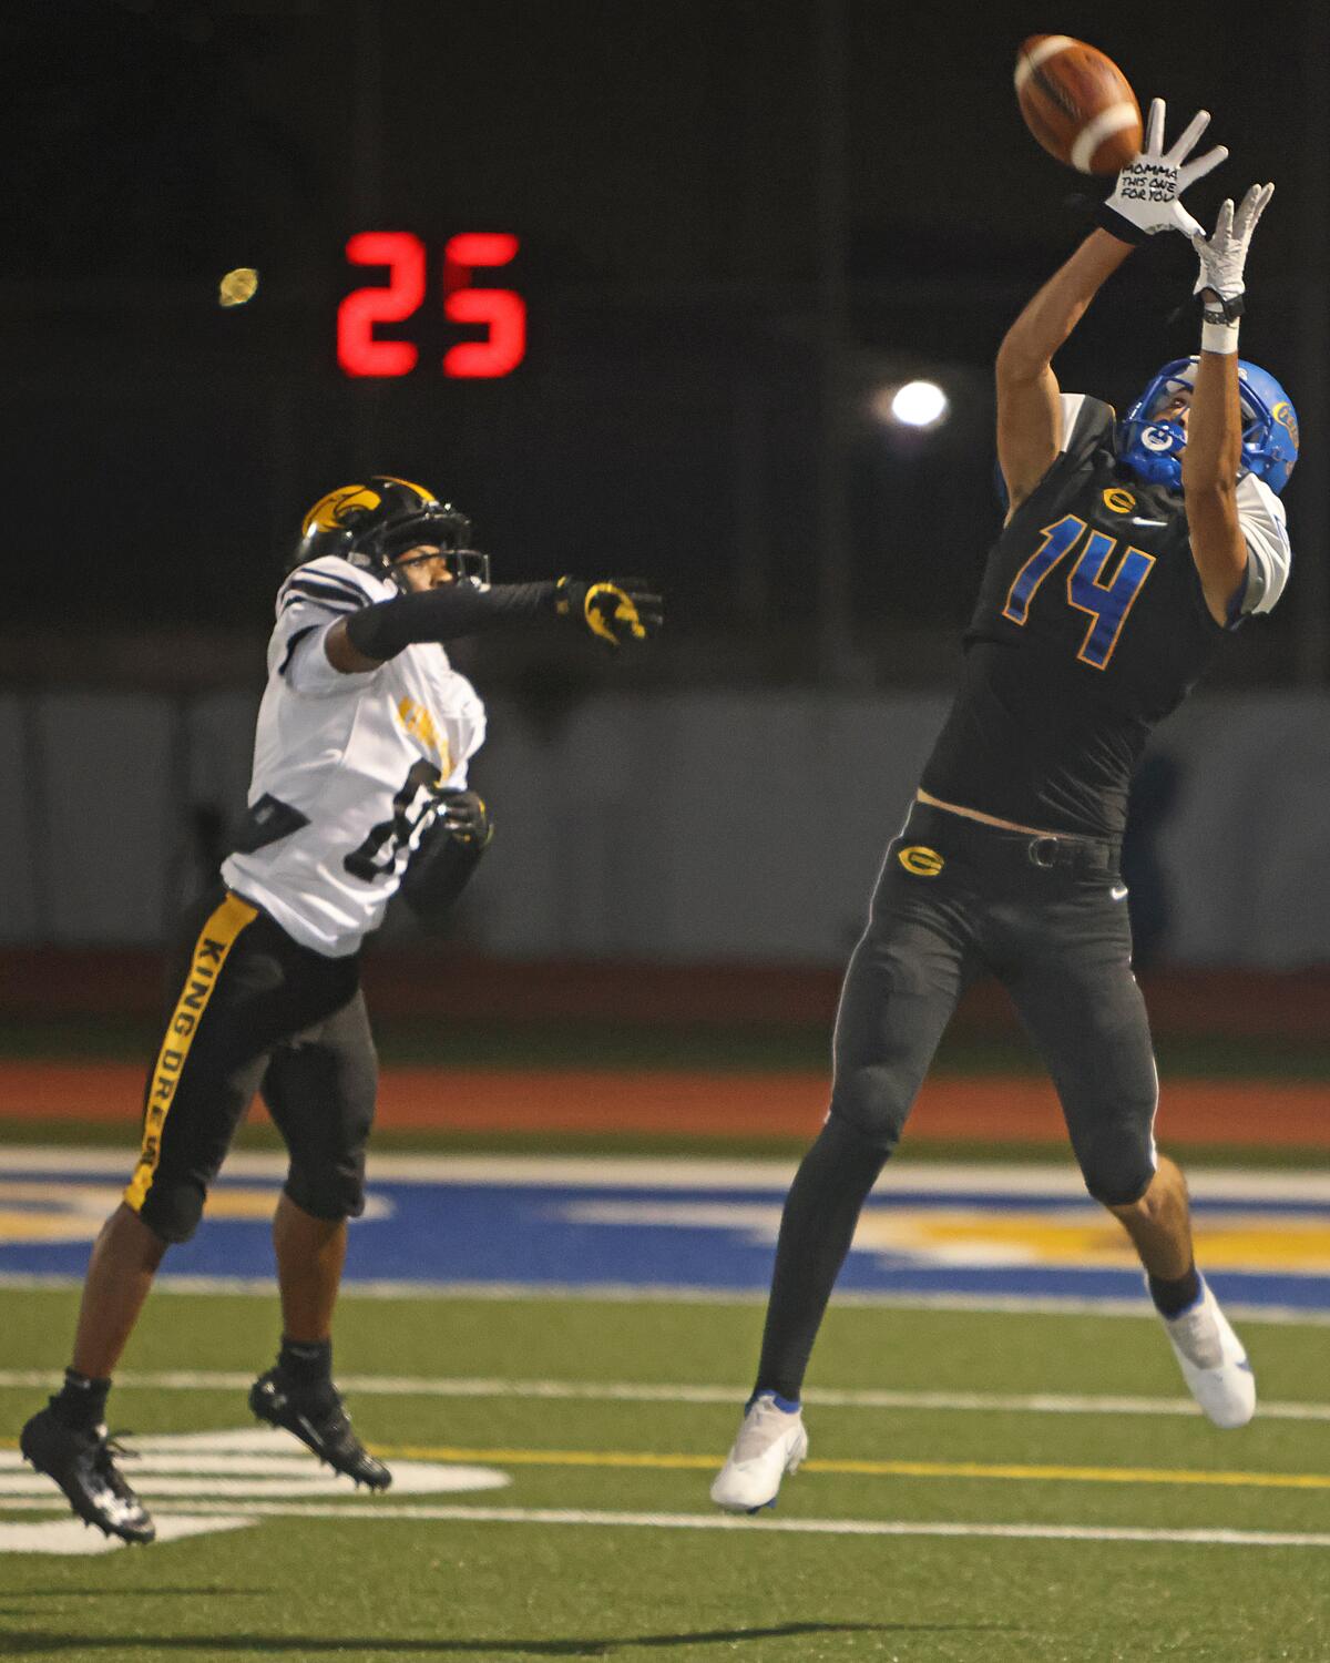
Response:
M1217 624L1229 622L1247 575L1247 540L1237 512L1242 462L1237 333L1247 293L1242 276L1247 248L1273 191L1273 185L1254 185L1237 211L1232 201L1224 203L1214 236L1207 238L1199 226L1192 236L1200 259L1195 293L1204 324L1182 452L1182 496L1192 559Z

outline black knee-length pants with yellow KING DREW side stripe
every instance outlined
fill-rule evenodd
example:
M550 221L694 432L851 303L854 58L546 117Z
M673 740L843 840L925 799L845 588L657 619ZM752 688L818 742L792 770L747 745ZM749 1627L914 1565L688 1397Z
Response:
M161 1046L125 1201L163 1241L188 1241L256 1091L286 1141L286 1194L319 1219L364 1211L377 1058L359 955L301 946L218 885L185 916Z

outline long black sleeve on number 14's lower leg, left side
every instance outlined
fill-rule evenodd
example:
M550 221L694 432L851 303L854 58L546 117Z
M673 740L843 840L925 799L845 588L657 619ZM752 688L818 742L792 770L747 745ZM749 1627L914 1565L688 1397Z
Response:
M826 1300L884 1164L884 1151L841 1121L828 1121L803 1157L780 1221L755 1392L798 1402Z

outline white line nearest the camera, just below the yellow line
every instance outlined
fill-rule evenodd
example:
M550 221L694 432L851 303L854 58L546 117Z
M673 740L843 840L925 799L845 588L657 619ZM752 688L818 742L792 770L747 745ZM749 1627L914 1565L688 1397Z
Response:
M3 1512L35 1512L32 1502L0 1498ZM1187 1547L1240 1547L1240 1548L1330 1548L1327 1532L1293 1530L1150 1530L1124 1525L989 1525L913 1520L913 1518L735 1518L728 1513L612 1513L577 1508L549 1507L436 1507L416 1503L394 1505L389 1500L357 1507L342 1503L304 1502L153 1502L153 1512L175 1512L191 1517L219 1513L251 1518L346 1518L356 1525L392 1523L409 1520L421 1523L477 1523L477 1525L602 1525L610 1528L642 1530L776 1530L788 1535L825 1537L953 1537L993 1538L1014 1542L1152 1542Z

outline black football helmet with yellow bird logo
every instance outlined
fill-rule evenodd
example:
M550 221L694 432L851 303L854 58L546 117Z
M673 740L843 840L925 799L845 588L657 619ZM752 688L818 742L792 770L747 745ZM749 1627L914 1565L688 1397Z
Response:
M369 474L362 484L339 486L319 497L301 522L289 570L337 554L386 577L392 562L417 544L436 545L454 574L489 582L489 555L470 547L470 521L424 486L392 474Z

